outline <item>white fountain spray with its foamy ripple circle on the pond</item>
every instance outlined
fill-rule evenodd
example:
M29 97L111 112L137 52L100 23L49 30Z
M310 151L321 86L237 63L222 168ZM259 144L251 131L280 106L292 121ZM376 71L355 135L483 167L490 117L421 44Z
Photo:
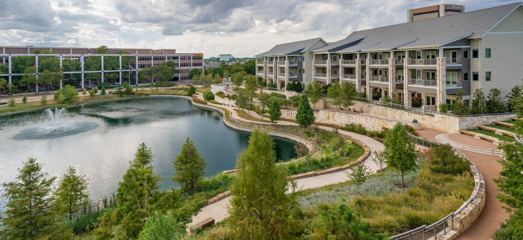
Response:
M96 123L79 120L74 118L67 118L66 109L58 109L55 107L54 113L50 109L46 109L42 113L42 123L28 127L15 136L15 139L46 139L57 138L78 133L83 133L94 129L98 126Z

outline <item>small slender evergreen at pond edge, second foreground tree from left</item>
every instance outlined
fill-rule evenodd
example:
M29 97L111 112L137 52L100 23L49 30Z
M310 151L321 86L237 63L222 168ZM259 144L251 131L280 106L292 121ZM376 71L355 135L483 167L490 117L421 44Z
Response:
M87 181L85 176L76 175L76 170L70 166L62 176L62 179L60 179L55 193L60 213L66 214L69 217L69 221L74 218L74 214L81 210L82 206L87 202L89 196L86 190Z

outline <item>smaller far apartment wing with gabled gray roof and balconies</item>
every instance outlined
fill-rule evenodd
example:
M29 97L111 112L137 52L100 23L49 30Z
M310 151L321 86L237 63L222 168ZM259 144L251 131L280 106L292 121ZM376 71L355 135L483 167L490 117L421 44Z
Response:
M289 81L311 82L312 49L328 45L322 38L278 44L265 53L256 55L256 76L267 83L275 83L285 89Z

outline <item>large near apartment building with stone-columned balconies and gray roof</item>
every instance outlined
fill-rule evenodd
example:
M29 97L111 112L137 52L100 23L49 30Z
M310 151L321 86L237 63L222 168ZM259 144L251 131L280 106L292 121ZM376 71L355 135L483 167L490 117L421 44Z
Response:
M523 78L521 23L523 4L515 3L356 31L309 50L311 80L304 83L349 81L368 98L386 95L410 106L421 97L429 109L451 103L458 90L466 103L479 88L505 95Z

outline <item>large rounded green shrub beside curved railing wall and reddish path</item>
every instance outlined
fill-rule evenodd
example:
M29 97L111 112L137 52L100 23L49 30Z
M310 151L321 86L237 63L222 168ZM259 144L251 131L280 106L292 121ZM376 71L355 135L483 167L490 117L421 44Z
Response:
M436 173L462 174L470 172L470 163L457 155L450 145L439 145L433 147L434 158L429 169Z

